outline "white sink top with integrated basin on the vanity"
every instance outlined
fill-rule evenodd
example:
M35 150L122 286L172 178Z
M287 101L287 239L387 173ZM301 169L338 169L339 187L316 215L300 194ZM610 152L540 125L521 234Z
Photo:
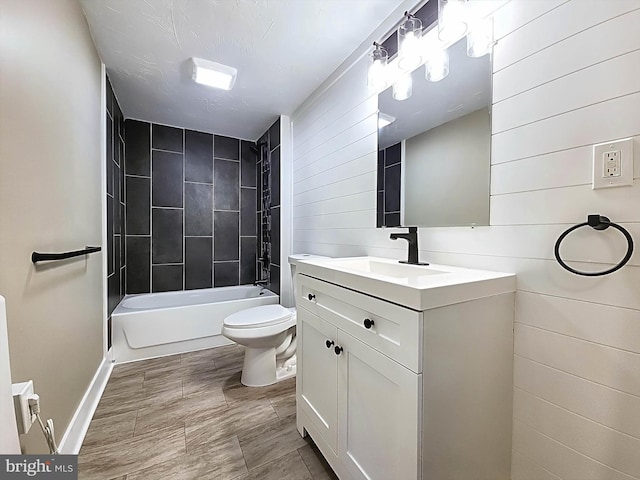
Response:
M377 257L318 258L297 273L367 293L414 310L427 310L513 292L515 275L447 265L408 265Z

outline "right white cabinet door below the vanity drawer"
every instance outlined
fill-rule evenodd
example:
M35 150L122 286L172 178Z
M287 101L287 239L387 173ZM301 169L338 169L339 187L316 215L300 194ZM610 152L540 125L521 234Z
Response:
M342 330L338 344L338 457L354 479L419 479L422 375Z

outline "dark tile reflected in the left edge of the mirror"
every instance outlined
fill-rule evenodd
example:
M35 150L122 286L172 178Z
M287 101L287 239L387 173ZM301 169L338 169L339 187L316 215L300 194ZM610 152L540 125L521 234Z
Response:
M402 144L396 143L378 152L378 201L376 225L400 226L400 188Z

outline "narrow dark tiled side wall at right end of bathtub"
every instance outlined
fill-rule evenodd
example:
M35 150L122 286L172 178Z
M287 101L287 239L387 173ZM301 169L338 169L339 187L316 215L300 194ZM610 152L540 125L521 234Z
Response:
M280 294L280 119L260 137L258 148L256 216L260 252L256 268L261 279L269 280L269 289Z

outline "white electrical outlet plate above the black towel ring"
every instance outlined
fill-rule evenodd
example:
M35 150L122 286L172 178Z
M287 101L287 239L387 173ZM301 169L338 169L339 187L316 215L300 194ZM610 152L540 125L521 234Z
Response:
M593 189L633 185L633 139L593 146Z

